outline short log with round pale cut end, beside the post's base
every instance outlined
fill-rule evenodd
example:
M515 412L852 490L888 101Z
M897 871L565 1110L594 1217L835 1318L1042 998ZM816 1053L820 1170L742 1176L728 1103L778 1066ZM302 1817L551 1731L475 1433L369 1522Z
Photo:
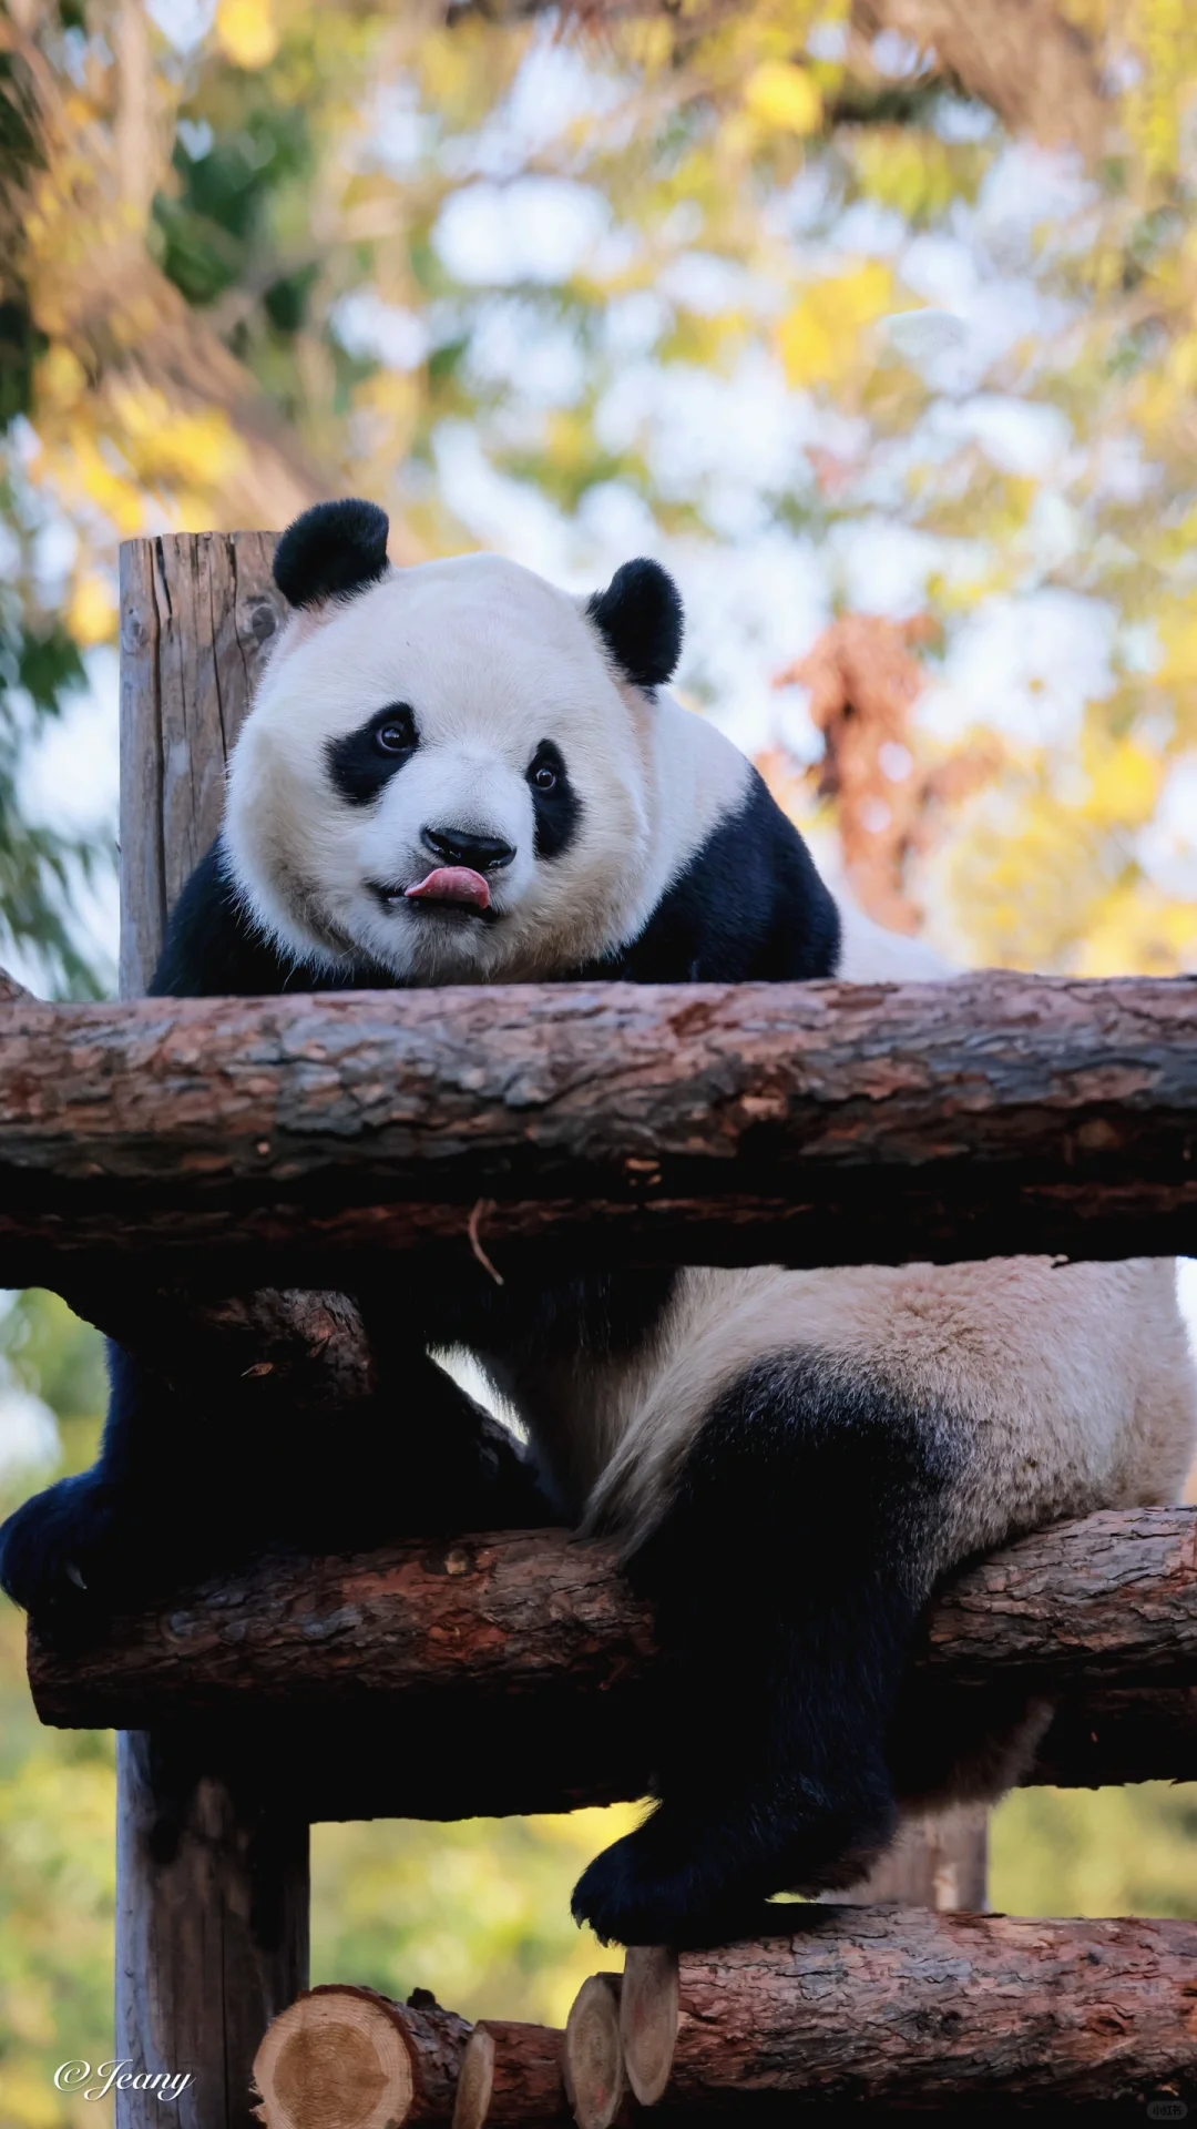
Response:
M392 2003L373 1988L309 1988L253 2057L266 2129L403 2129L449 2123L471 2027L426 1988Z

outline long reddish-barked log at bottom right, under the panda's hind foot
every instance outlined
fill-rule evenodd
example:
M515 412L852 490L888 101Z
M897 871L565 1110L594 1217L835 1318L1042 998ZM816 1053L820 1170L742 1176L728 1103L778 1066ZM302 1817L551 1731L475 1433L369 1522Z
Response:
M799 1912L792 1935L760 1944L628 1952L624 2048L652 2033L662 2116L775 2118L799 2099L1150 2103L1193 2089L1197 1922ZM637 2078L633 2061L635 2037Z

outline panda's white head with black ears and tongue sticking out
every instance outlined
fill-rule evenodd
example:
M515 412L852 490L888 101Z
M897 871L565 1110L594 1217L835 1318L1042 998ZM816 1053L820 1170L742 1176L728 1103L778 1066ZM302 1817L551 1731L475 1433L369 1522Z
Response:
M656 562L590 600L496 556L392 568L386 537L326 502L279 541L292 613L232 754L226 864L307 964L567 973L643 907L677 590Z

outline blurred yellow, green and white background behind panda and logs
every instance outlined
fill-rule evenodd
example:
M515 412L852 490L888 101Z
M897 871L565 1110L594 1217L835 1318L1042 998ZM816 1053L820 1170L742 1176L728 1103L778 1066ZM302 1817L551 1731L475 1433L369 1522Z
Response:
M1197 967L1195 83L1186 0L0 0L0 960L113 988L117 543L364 492L400 562L660 556L686 700L886 922ZM0 1505L100 1412L9 1297ZM0 2120L98 2129L113 1742L11 1610L0 1724ZM628 1816L319 1829L315 1978L560 2020ZM1018 1795L993 1899L1197 1914L1195 1833Z

